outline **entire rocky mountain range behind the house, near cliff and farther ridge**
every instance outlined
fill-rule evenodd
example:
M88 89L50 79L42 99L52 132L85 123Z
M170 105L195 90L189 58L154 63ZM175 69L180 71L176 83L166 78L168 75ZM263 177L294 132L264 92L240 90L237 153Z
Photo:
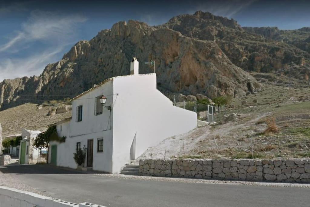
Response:
M168 97L259 91L261 85L247 71L310 75L308 52L244 29L235 20L197 11L158 26L121 21L76 43L40 76L0 83L0 110L73 97L106 78L129 74L133 56L140 61L140 73L153 72L153 66L142 63L155 61L157 86Z

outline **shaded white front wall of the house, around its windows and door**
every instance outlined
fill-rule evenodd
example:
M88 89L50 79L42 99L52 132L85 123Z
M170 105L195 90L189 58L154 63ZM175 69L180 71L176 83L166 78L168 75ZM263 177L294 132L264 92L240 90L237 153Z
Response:
M57 165L69 168L76 168L77 164L73 159L76 150L76 143L81 142L81 147L87 148L87 140L93 139L93 169L111 172L112 169L112 124L113 116L109 121L110 111L103 108L101 115L95 115L95 97L107 96L106 106L113 103L113 83L108 81L98 89L86 93L84 96L74 100L72 103L72 119L69 122L57 125L59 136L66 136L66 142L57 146ZM83 106L82 121L76 122L76 107ZM60 125L62 130L60 131ZM104 138L104 151L97 153L97 138ZM56 144L51 142L50 146ZM51 160L49 151L49 162ZM86 157L87 160L87 157ZM86 160L84 166L86 166Z

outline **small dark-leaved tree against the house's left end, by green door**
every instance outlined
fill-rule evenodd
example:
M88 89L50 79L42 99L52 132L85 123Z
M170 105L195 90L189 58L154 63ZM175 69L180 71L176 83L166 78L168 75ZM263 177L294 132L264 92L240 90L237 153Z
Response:
M56 126L53 125L47 128L45 132L38 134L37 138L34 140L34 146L40 150L42 150L42 148L47 148L47 157L48 157L48 147L49 147L50 141L58 141L61 143L61 142L65 142L66 138L67 137L65 136L59 137L57 134ZM48 159L47 159L47 163L48 163Z

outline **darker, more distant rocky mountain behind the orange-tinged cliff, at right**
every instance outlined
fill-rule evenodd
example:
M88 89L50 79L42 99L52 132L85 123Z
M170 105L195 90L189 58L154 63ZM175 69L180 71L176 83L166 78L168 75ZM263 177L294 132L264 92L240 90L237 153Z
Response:
M270 39L277 28L242 28L237 21L197 11L173 17L164 27L184 36L214 41L234 65L246 71L309 74L310 54L285 42Z

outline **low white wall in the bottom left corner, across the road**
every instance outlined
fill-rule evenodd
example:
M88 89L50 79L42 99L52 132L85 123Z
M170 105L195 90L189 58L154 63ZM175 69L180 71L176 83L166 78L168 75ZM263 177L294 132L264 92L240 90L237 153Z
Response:
M71 203L68 201L41 196L35 193L20 191L14 188L0 186L0 207L104 207L90 203Z

